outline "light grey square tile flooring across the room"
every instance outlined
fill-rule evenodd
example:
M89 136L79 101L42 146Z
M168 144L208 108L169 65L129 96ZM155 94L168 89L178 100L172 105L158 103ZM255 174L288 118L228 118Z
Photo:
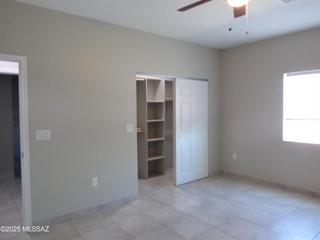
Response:
M320 240L319 198L224 175L172 182L172 169L139 179L139 198L128 204L0 239ZM19 190L0 184L0 225L21 225Z

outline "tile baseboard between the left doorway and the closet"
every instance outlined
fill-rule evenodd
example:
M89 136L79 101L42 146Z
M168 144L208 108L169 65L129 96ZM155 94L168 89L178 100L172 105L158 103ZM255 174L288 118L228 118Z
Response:
M66 221L66 220L72 220L72 219L75 219L75 218L78 218L81 216L86 216L91 213L94 213L94 212L97 212L97 211L100 211L100 210L103 210L103 209L106 209L109 207L114 207L114 206L118 206L121 204L125 204L125 203L128 203L130 201L137 199L138 197L139 197L138 194L126 196L126 197L119 198L119 199L116 199L113 201L109 201L109 202L106 202L106 203L103 203L103 204L100 204L97 206L93 206L93 207L85 208L82 210L70 212L67 214L60 215L60 216L55 216L55 217L48 218L43 221L38 221L36 223L33 223L32 225L33 226L50 226L53 224L57 224L57 223Z

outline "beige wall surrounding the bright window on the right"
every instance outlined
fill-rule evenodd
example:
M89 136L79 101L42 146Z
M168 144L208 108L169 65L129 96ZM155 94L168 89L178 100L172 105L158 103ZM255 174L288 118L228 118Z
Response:
M282 77L320 69L320 28L223 50L221 64L222 169L319 192L320 146L282 141Z

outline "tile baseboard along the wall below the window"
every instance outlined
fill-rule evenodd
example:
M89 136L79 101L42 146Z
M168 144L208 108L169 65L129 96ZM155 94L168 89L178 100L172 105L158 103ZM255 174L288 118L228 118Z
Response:
M295 192L299 192L299 193L304 193L304 194L309 194L312 196L320 197L320 192L317 192L317 191L311 191L311 190L307 190L304 188L290 186L290 185L286 185L286 184L282 184L282 183L278 183L278 182L274 182L274 181L269 181L269 180L265 180L265 179L258 178L258 177L247 176L247 175L234 173L234 172L230 172L230 171L225 171L225 170L219 171L219 174L228 175L228 176L231 176L231 177L234 177L237 179L246 179L246 180L253 181L256 183L260 183L260 184L264 184L264 185L274 186L277 188L287 189L290 191L295 191Z

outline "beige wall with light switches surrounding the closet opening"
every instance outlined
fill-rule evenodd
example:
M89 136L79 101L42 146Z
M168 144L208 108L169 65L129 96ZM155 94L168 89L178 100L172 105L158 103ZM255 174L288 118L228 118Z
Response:
M32 222L137 193L137 71L209 79L219 169L219 50L7 0L0 36L0 52L27 57Z

